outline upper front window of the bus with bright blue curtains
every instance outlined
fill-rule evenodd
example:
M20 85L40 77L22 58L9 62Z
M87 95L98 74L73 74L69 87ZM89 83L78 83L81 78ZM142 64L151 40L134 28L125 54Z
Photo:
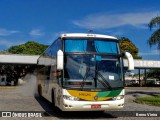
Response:
M65 52L96 52L117 54L117 41L111 39L66 39Z

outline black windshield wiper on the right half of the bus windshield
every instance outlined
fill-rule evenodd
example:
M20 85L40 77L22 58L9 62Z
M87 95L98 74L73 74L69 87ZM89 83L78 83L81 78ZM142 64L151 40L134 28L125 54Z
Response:
M104 86L104 87L108 87L110 90L112 90L113 88L111 87L111 85L109 84L109 82L103 77L103 75L101 74L101 73L99 73L97 70L95 70L96 71L96 73L102 78L102 80L101 79L98 79L97 78L97 80L99 80L99 82Z

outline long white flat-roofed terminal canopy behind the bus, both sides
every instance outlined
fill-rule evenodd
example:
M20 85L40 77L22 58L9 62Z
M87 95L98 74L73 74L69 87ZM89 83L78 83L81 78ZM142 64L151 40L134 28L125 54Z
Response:
M4 65L13 65L21 67L21 71L24 71L26 66L36 66L39 55L19 55L19 54L2 54L0 55L0 66L3 68ZM138 83L142 84L141 71L143 70L144 77L146 78L147 69L159 69L160 61L158 60L134 60L135 69L138 70ZM124 59L124 68L128 67L127 60ZM16 67L17 68L17 67ZM13 69L13 68L12 68ZM12 71L13 72L13 71ZM21 74L20 72L17 74ZM18 75L20 76L20 75ZM6 78L4 78L5 80ZM130 78L132 80L132 78ZM146 80L143 80L146 83ZM1 83L1 81L0 81ZM4 85L4 84L1 84Z

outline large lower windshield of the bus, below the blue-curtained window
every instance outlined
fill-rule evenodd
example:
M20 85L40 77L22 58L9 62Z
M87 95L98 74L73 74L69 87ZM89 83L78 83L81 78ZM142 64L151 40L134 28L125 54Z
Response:
M100 54L65 54L64 61L64 87L90 90L123 87L120 57Z

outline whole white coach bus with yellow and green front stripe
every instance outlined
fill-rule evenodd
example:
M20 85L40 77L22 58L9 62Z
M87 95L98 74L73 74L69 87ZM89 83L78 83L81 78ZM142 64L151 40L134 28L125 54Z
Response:
M132 55L125 55L133 70ZM62 34L37 61L38 92L62 111L123 108L123 56L115 37Z

